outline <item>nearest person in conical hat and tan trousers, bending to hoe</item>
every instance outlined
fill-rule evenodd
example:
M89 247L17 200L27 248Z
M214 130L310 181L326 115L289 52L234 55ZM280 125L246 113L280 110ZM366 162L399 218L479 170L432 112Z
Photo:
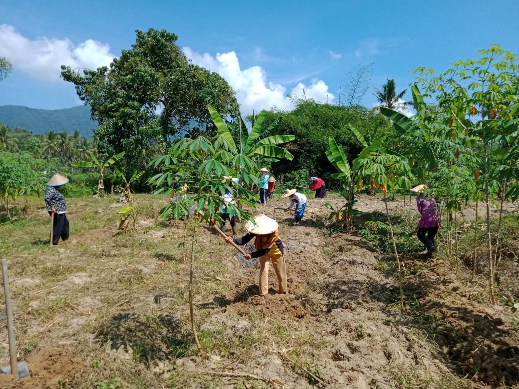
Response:
M245 259L260 258L260 296L268 295L268 264L271 261L278 276L278 293L288 294L286 264L283 241L279 239L279 225L276 220L260 214L245 225L247 234L239 239L225 238L226 243L234 242L244 246L254 238L256 251L245 254Z

